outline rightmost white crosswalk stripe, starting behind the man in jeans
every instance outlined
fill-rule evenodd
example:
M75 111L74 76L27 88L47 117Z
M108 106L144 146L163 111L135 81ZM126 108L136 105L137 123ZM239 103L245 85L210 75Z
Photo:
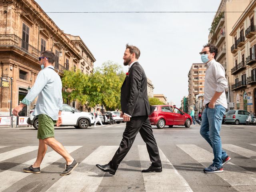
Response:
M255 151L248 150L246 148L242 148L242 147L232 145L232 144L222 144L222 148L232 151L234 153L237 153L239 155L256 160L256 152Z

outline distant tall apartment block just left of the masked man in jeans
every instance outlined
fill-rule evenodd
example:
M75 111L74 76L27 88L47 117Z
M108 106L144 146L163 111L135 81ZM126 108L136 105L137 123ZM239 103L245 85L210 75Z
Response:
M193 63L188 72L188 106L195 108L196 96L204 93L206 66L204 63Z

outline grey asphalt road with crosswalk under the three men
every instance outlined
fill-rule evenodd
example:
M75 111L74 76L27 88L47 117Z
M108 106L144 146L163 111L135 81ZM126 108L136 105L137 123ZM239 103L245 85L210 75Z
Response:
M64 159L48 148L40 174L22 172L33 164L38 140L34 128L0 128L0 192L256 192L256 126L223 125L223 148L232 158L224 172L202 170L213 159L212 149L200 136L200 126L157 129L163 172L143 173L150 166L146 145L137 136L114 176L95 164L108 163L122 139L125 123L88 129L55 129L60 141L80 164L68 176L60 176Z

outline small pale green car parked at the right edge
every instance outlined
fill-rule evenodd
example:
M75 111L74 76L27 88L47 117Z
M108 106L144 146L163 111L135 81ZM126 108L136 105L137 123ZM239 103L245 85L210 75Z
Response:
M239 123L246 124L246 119L249 115L250 113L245 110L229 110L226 113L225 123L233 123L235 125L238 125ZM252 116L252 118L255 119L256 117Z

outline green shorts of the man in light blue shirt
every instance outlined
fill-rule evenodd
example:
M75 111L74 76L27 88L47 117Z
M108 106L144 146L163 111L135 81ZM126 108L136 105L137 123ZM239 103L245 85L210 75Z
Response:
M37 130L37 138L38 139L46 139L49 137L54 137L54 124L55 120L52 120L46 114L38 115L38 130Z

